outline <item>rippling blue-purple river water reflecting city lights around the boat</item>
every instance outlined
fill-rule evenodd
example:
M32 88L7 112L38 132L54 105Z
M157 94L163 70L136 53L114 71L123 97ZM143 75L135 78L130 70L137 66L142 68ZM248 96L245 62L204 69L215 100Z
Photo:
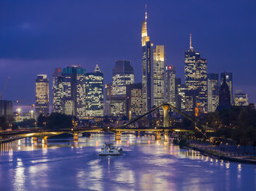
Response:
M121 139L124 155L109 157L98 152L114 136L5 144L0 190L256 190L254 165L211 159L153 136Z

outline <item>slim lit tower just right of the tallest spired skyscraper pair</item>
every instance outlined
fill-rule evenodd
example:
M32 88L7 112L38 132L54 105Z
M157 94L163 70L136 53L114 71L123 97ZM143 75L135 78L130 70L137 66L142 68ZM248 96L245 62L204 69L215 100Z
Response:
M167 67L166 78L166 97L167 102L176 107L176 70L174 66L169 65Z

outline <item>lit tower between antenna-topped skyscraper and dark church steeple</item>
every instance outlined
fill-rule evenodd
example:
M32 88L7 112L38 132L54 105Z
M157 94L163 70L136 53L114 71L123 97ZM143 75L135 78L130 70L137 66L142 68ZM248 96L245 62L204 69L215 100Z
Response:
M219 105L219 75L217 73L208 74L207 92L208 92L208 112L215 112Z

